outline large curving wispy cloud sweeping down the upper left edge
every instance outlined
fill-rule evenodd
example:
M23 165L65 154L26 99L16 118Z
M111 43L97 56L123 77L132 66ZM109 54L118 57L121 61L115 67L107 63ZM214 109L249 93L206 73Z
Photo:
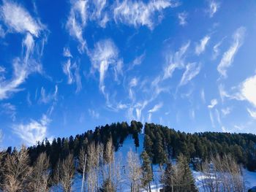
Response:
M9 98L12 93L22 90L20 85L26 82L30 74L39 72L42 74L42 65L39 58L47 39L45 26L38 18L32 18L29 12L20 4L12 1L3 1L0 19L4 21L8 31L24 34L20 57L12 61L12 77L7 80L0 79L0 100ZM38 44L37 41L38 40Z

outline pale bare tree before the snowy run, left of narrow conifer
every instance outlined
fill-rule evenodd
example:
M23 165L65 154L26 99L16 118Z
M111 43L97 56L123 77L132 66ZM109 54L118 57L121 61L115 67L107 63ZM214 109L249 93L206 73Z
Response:
M129 150L127 153L127 164L131 192L137 192L140 190L140 180L142 177L142 170L138 154L132 152L132 150Z

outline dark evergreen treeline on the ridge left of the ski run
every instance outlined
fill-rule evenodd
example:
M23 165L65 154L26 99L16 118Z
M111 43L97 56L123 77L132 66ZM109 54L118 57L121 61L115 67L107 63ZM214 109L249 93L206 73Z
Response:
M78 158L82 148L86 148L92 142L106 145L110 138L113 140L114 149L118 150L118 147L123 144L124 139L129 134L132 134L135 146L139 147L138 134L141 133L142 128L142 123L132 120L130 125L127 122L112 123L110 125L97 126L94 131L89 130L75 137L58 137L54 138L52 142L45 139L44 141L37 142L37 145L28 148L30 164L34 164L41 153L46 153L49 157L50 167L55 169L58 161L67 158L69 153L72 153L74 158ZM8 147L6 152L12 154L15 151L15 148L12 150L12 147Z

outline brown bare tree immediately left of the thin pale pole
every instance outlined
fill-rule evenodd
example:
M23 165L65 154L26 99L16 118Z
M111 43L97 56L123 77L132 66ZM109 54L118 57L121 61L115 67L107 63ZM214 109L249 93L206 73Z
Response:
M72 180L75 174L74 158L72 154L67 155L61 162L60 183L65 192L72 191Z

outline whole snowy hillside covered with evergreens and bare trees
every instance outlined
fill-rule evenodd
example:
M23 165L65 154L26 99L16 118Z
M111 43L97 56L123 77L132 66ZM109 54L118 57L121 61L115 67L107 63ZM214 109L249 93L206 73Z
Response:
M29 172L27 183L33 182L33 172L45 170L39 178L47 175L48 179L45 182L48 185L45 185L45 188L50 187L51 191L60 191L61 188L64 190L64 179L67 178L67 190L70 191L72 186L72 191L80 191L83 172L86 177L85 188L92 188L91 182L94 183L95 189L103 190L107 186L116 186L118 191L130 191L132 186L139 188L142 185L141 181L146 183L143 187L140 186L141 190L146 190L150 186L154 191L164 188L165 181L162 178L167 174L167 167L170 165L171 172L177 172L177 180L181 175L187 178L189 184L184 183L185 179L182 179L181 183L192 191L196 191L196 188L205 191L208 187L206 183L213 178L214 185L220 183L219 188L227 188L231 184L224 181L233 177L237 180L235 184L244 183L245 189L256 185L256 173L249 172L255 171L255 144L254 134L189 134L154 123L143 125L132 120L130 124L122 122L99 126L94 131L86 131L75 137L56 138L52 142L45 139L28 149L22 147L20 150L12 150L9 147L0 153L0 163L5 168L1 169L1 182L6 182L6 178L9 178L8 173L12 174L9 172L10 169L25 166L27 170L34 170ZM212 162L215 162L214 166L211 165ZM20 168L15 172L20 172L19 170ZM140 171L134 172L131 176L131 170ZM148 174L150 172L152 174ZM116 183L115 185L108 183L107 175L108 180ZM136 180L131 178L135 175ZM175 174L171 175L174 177ZM43 178L45 176L41 179ZM132 180L135 183L131 182ZM169 181L170 179L166 182Z

